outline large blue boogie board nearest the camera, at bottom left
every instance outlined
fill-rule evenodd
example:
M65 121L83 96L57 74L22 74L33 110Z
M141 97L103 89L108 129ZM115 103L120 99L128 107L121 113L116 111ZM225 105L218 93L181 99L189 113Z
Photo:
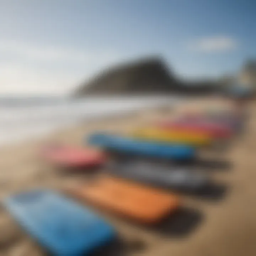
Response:
M112 226L89 209L48 190L11 196L4 205L17 222L53 255L87 255L112 241Z

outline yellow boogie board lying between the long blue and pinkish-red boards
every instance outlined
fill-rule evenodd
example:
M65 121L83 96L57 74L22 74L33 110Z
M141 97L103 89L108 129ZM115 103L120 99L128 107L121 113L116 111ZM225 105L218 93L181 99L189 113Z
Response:
M193 133L161 128L143 128L132 132L132 137L166 143L190 144L195 146L210 145L213 139L208 134Z

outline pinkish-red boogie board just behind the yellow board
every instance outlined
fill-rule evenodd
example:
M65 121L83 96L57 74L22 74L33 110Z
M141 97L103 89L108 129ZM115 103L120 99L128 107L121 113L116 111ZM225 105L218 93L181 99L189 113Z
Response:
M233 134L233 130L224 125L199 118L181 119L173 122L161 122L159 127L172 130L187 130L193 132L199 132L208 134L214 138L230 138Z

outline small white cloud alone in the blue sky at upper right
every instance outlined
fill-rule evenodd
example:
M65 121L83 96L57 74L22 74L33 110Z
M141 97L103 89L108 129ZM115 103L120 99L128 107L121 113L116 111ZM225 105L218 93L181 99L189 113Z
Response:
M189 45L189 48L198 52L215 53L227 52L236 49L238 43L227 36L202 37Z

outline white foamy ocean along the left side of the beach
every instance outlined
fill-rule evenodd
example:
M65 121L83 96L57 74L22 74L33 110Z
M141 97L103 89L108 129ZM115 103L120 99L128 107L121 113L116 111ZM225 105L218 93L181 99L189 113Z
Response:
M175 97L0 97L0 145L38 138L100 118L176 103Z

